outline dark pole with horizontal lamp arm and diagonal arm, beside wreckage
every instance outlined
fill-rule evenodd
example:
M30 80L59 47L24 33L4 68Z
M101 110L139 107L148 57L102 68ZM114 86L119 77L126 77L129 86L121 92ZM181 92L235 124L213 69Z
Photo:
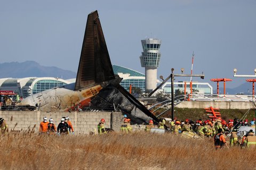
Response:
M172 120L174 119L174 77L201 77L201 79L204 79L204 74L173 74L174 69L171 69L172 73L167 77L155 90L150 92L148 97L154 94L157 89L159 89L163 84L171 78L171 96L172 96ZM183 73L184 69L181 69L181 72ZM161 79L163 79L163 76L160 76Z

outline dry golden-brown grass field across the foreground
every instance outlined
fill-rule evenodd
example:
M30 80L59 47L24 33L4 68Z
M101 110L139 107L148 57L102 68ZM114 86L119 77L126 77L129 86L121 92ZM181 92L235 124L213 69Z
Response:
M173 134L1 135L0 169L255 169L255 150Z

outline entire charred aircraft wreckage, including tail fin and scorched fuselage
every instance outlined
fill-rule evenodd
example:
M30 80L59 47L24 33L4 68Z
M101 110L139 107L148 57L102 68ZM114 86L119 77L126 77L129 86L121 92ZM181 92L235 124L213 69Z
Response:
M45 90L29 96L19 106L37 106L39 111L84 111L85 108L100 111L122 111L129 114L132 123L159 120L127 92L114 74L103 36L99 15L88 15L76 82Z

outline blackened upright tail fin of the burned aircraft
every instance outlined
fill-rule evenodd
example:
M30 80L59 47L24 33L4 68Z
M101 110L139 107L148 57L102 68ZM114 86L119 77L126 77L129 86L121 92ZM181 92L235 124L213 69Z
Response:
M88 15L75 90L115 79L98 11Z

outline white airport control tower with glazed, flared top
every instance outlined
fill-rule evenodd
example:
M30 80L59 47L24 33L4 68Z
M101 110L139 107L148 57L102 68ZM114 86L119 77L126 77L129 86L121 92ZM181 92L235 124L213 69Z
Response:
M145 89L146 91L153 91L156 88L157 67L161 53L159 51L161 40L159 39L143 39L141 40L143 52L140 56L140 63L145 67Z

